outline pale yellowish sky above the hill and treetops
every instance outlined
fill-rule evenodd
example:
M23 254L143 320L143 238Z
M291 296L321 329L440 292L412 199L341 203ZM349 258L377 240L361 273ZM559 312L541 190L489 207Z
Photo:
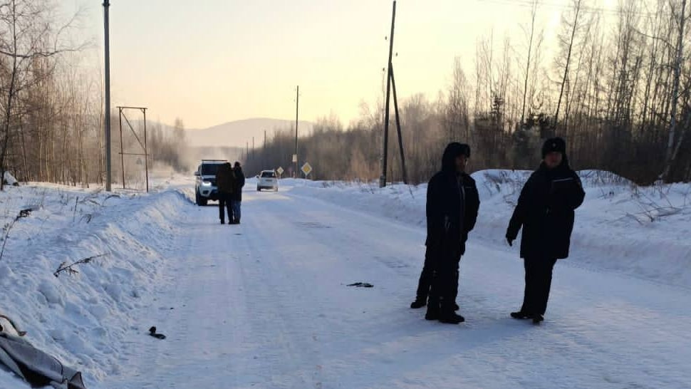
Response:
M546 40L562 11L540 10ZM83 31L103 56L102 0L70 0L85 8ZM606 4L612 1L606 1ZM477 39L506 33L526 45L519 23L526 0L399 0L394 68L400 98L434 100L450 81L455 56L473 73ZM390 0L111 0L113 105L144 105L152 119L205 128L243 118L300 118L333 113L344 124L360 103L381 93L388 55Z

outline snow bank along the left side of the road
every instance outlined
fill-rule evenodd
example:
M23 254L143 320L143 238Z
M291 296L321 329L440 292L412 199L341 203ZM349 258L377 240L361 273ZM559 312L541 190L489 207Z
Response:
M83 371L87 385L120 373L125 345L148 328L133 311L166 281L161 253L187 201L175 190L113 196L8 187L0 192L0 217L4 232L9 229L0 259L0 314L35 346ZM22 210L28 215L14 222ZM61 264L102 254L74 266L76 274L53 275ZM0 369L0 387L9 385L16 378Z

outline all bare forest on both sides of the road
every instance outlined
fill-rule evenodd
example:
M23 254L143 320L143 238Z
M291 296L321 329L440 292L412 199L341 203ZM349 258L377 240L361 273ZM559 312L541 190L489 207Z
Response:
M464 69L449 58L450 85L436 96L400 101L410 182L425 182L451 140L472 145L472 170L531 169L542 140L566 138L576 169L610 170L640 184L691 181L691 33L687 0L626 0L615 10L594 1L563 6L558 50L544 48L536 23L541 1L521 0L524 35L497 44L480 38ZM103 74L88 66L95 49L80 42L79 14L62 21L56 1L0 4L0 172L22 181L102 184ZM489 33L489 31L488 31ZM467 59L467 58L464 58ZM405 85L405 80L397 80ZM374 180L380 175L383 95L343 125L325 117L299 140L313 177ZM130 114L136 131L137 120ZM113 177L122 180L119 118L113 115ZM128 130L125 152L137 152ZM184 171L182 120L152 126L150 165ZM246 170L291 167L293 131L244 157ZM390 181L402 180L395 117L390 116ZM126 180L141 180L142 160L128 157Z

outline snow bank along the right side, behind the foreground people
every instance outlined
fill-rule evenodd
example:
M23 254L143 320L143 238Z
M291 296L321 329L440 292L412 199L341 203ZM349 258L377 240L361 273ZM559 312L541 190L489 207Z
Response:
M482 205L472 242L505 245L504 234L521 187L531 172L473 174ZM691 185L637 187L610 172L578 173L586 201L576 211L571 266L618 271L675 286L691 284ZM281 180L291 194L317 197L425 227L427 185ZM518 245L511 250L516 251ZM506 246L506 249L510 248ZM471 251L472 252L472 251Z

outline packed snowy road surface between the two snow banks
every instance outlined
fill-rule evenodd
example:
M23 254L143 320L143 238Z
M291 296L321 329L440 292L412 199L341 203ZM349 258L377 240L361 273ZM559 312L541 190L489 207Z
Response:
M688 290L561 261L532 326L508 318L521 261L471 237L467 322L432 323L408 308L423 229L287 188L245 196L240 226L185 205L167 253L175 281L141 312L168 338L133 341L100 388L691 387ZM357 281L374 288L346 286Z

